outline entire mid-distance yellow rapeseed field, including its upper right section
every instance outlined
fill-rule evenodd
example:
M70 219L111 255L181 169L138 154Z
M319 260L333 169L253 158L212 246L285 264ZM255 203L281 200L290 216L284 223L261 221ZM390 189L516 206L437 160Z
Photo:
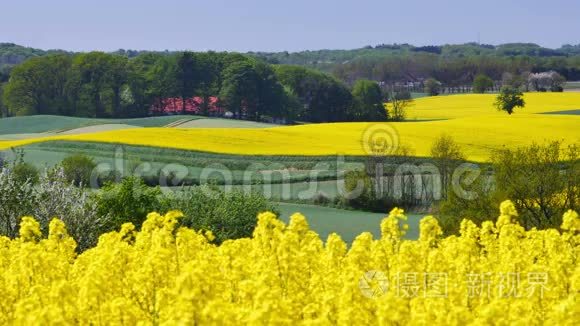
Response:
M491 149L532 142L580 142L580 115L539 112L580 109L580 93L526 94L527 105L513 115L493 108L493 95L455 95L417 100L409 118L398 123L330 123L260 129L142 128L83 135L0 142L0 149L49 140L95 141L248 155L364 155L369 139L385 138L417 156L447 133L468 158L486 161ZM434 120L442 119L442 120ZM371 132L369 132L369 130Z

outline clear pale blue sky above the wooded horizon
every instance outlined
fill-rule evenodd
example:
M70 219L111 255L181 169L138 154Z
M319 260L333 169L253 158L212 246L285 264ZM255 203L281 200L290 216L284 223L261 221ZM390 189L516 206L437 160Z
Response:
M17 0L0 42L66 50L299 51L381 43L580 43L579 0Z

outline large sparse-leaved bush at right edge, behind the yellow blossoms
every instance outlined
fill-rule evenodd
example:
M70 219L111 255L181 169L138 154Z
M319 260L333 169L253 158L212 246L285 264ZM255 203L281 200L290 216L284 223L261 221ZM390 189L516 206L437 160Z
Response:
M558 228L562 215L580 206L580 148L561 142L493 153L496 187L510 198L523 225Z

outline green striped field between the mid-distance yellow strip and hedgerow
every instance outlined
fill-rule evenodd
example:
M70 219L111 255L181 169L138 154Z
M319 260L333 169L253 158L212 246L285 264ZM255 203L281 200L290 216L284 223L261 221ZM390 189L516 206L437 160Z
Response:
M54 141L38 143L21 147L24 160L38 168L54 166L64 158L74 154L84 154L92 157L97 164L117 166L119 163L132 172L138 166L146 167L144 176L152 177L168 165L181 165L188 169L187 183L196 184L200 180L212 180L218 184L224 180L223 175L231 176L236 185L246 184L250 178L255 190L264 189L271 193L271 198L281 200L305 200L318 192L324 192L326 197L336 197L337 171L360 168L362 159L346 157L344 162L337 162L335 157L303 157L303 156L249 156L213 154L195 151L174 150L144 146L117 146L105 143L84 143ZM6 151L10 154L10 151ZM120 156L119 156L120 155ZM10 159L10 156L8 157ZM340 168L339 168L340 166ZM209 171L209 172L208 172ZM259 171L263 172L261 176ZM203 173L209 173L203 177ZM316 184L311 188L309 180L328 181ZM270 180L271 189L264 186ZM281 185L282 181L287 182ZM333 184L334 182L334 184ZM310 192L307 192L311 189Z

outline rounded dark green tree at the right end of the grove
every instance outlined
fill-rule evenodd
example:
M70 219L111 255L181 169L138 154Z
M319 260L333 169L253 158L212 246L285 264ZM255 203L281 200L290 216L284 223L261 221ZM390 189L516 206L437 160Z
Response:
M383 106L383 94L376 82L366 79L357 80L352 89L352 97L349 120L387 120L387 111Z

